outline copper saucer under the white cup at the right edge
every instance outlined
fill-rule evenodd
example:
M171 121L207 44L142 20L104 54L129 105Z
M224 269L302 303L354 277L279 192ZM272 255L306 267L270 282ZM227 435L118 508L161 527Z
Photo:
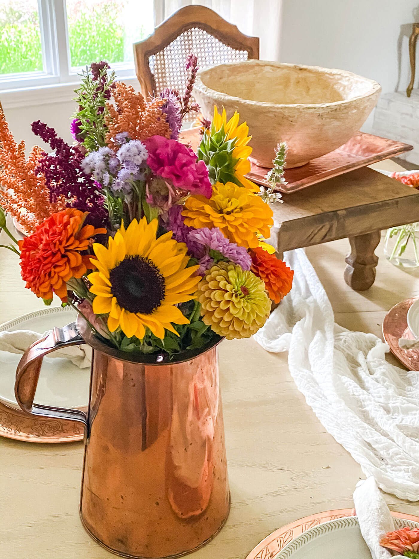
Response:
M399 339L413 339L413 335L407 326L407 311L416 301L417 297L411 297L394 305L384 317L383 336L388 343L394 356L410 371L419 371L419 351L417 349L402 349L399 347Z

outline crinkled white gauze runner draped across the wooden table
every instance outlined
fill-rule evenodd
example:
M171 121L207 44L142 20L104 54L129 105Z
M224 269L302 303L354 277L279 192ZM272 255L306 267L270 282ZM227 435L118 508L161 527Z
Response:
M291 292L255 340L288 350L288 366L323 427L381 489L419 500L419 372L385 361L388 345L335 324L326 292L303 249L285 253Z

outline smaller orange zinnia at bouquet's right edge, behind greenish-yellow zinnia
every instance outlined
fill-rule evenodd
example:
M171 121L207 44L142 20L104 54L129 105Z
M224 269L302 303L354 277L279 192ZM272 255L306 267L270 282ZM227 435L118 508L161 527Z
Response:
M283 262L278 260L274 254L256 247L251 250L251 271L265 282L266 291L270 299L279 303L281 299L291 291L294 272Z

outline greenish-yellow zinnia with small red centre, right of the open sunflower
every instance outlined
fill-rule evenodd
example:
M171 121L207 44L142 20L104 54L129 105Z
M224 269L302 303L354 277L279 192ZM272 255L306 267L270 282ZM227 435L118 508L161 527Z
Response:
M218 262L198 285L204 324L228 340L249 338L265 324L271 302L265 284L238 264Z

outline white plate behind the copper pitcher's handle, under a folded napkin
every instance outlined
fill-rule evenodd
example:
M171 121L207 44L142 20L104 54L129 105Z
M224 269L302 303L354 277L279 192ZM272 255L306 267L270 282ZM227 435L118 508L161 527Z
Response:
M34 330L43 333L75 319L71 307L47 307L0 325L5 330ZM21 355L0 351L0 401L18 409L15 400L16 367ZM85 408L89 397L90 369L79 369L68 359L45 357L36 389L37 404L59 408Z

